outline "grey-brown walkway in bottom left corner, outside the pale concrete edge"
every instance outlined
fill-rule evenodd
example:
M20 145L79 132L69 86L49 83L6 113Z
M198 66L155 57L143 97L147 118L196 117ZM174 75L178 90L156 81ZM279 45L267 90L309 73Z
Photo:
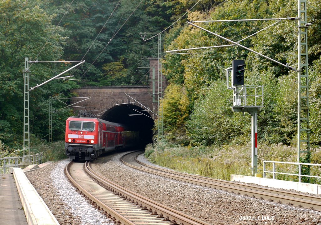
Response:
M0 174L0 225L27 225L13 174Z

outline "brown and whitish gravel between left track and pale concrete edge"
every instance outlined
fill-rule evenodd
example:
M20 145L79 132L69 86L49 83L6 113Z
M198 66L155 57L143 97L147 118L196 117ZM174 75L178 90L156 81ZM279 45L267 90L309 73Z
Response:
M31 184L48 205L61 225L111 225L109 219L69 183L64 168L69 159L51 163L41 169L26 173Z

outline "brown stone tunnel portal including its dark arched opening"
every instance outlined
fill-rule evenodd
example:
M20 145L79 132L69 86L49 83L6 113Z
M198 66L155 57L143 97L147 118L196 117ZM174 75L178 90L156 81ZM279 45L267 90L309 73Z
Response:
M85 101L86 107L95 108L97 111L107 110L99 118L128 125L139 131L141 145L144 146L152 142L160 86L164 91L168 85L164 75L159 73L158 58L149 58L149 68L149 85L85 86L71 92L77 97L90 97L90 100ZM71 100L71 103L76 103L76 100Z

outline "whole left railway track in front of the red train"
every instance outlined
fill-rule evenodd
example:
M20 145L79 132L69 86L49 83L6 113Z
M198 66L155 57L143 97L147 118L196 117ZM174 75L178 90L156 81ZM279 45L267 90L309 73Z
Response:
M210 225L122 188L93 171L91 163L69 163L65 174L74 186L117 225Z

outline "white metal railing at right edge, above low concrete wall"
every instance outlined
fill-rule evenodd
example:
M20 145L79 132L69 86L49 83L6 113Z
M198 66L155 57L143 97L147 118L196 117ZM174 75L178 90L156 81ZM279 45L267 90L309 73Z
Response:
M266 164L272 163L272 171L266 171ZM283 173L283 172L277 172L276 171L276 165L275 164L291 164L291 165L297 165L298 173ZM277 174L283 174L283 175L291 175L291 176L298 176L299 182L302 182L302 177L314 177L321 179L320 176L311 176L311 175L305 175L302 174L302 166L321 166L321 164L313 164L313 163L293 163L293 162L278 162L278 161L263 161L263 177L266 177L266 173L272 173L273 179L276 179Z

